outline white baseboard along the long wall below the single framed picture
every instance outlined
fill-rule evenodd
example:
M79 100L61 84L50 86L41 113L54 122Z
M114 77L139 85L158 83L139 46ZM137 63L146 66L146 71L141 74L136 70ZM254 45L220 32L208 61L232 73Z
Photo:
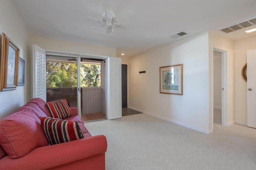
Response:
M133 107L130 107L130 106L128 106L128 108L129 108L129 109L136 110L136 111L139 111L139 112L142 112L142 113L145 113L145 114L150 115L150 116L153 116L153 117L156 117L156 118L158 118L158 119L162 119L162 120L165 120L165 121L168 121L168 122L171 122L171 123L175 123L175 124L177 124L177 125L181 125L181 126L187 127L187 128L189 128L189 129L193 129L193 130L202 132L202 133L206 133L206 134L211 134L211 133L213 133L213 130L211 130L211 131L206 131L206 130L200 129L200 128L198 128L198 127L194 127L194 126L191 126L191 125L187 125L187 124L185 124L185 123L181 123L181 122L178 122L178 121L174 121L174 120L172 120L172 119L167 119L167 118L162 117L162 116L154 115L154 114L152 114L152 113L148 113L148 112L146 112L146 111L143 111L143 110L140 110L140 109L136 109L136 108L133 108Z

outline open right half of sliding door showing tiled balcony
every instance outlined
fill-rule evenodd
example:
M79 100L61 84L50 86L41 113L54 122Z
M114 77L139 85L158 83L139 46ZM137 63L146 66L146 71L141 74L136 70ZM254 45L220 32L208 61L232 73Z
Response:
M104 59L81 57L81 119L84 122L106 119L106 74Z

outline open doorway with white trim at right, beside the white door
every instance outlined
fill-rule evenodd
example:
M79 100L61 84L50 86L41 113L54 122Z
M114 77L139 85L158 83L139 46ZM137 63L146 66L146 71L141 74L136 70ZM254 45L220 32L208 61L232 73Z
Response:
M226 51L213 49L213 124L228 125Z

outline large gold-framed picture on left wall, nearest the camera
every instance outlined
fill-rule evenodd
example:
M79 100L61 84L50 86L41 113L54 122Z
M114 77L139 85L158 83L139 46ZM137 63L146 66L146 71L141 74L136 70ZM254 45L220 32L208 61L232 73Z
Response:
M20 49L4 33L1 41L0 92L15 90L18 86L18 64Z

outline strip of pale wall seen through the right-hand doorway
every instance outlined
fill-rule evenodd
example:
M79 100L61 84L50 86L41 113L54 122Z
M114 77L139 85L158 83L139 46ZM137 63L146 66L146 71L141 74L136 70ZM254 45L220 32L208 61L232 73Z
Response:
M221 109L221 94L222 94L222 86L221 86L221 55L214 55L213 57L214 65L214 78L213 78L213 84L214 84L214 100L213 100L213 106L216 109Z

